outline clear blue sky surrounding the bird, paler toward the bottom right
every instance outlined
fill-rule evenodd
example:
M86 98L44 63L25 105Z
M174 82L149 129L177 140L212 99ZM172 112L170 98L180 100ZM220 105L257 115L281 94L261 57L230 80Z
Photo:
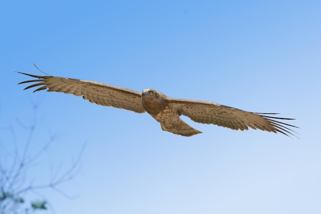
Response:
M19 123L31 124L36 103L30 153L55 140L27 179L48 182L86 143L81 170L61 186L76 199L26 196L56 213L320 213L320 10L319 1L3 2L0 155L23 147ZM203 134L181 137L147 113L23 91L17 83L29 77L13 71L41 75L33 63L55 76L279 112L297 119L300 139L187 118Z

